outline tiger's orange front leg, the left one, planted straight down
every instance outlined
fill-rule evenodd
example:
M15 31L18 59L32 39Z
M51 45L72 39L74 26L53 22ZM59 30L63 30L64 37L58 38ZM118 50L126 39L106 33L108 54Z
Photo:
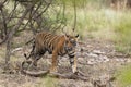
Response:
M53 52L52 52L51 66L50 66L50 73L58 71L58 70L57 70L57 65L58 65L57 57L58 57L57 52L53 51Z

